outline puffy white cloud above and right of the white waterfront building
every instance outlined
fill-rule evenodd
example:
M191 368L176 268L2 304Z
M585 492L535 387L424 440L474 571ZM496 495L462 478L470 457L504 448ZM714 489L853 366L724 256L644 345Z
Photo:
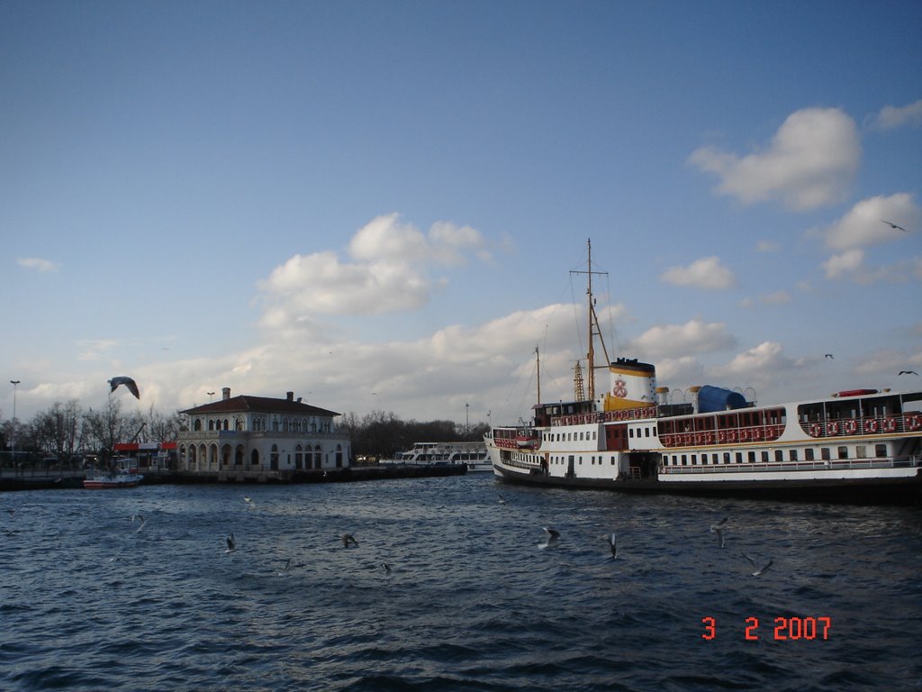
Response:
M489 257L480 234L469 226L439 221L428 235L397 214L372 219L352 237L349 256L295 255L258 286L265 301L262 324L293 325L305 316L378 315L427 304L444 284L437 268L462 264L468 254Z

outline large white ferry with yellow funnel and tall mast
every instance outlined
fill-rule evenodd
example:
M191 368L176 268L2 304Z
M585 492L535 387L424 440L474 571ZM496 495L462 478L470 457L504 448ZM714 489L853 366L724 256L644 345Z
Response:
M670 404L653 364L617 358L602 366L609 388L597 393L591 244L585 273L587 396L577 364L572 401L538 399L528 424L491 428L484 440L500 479L623 492L922 500L922 391L850 389L763 406L738 390L702 386L689 388L690 403Z

